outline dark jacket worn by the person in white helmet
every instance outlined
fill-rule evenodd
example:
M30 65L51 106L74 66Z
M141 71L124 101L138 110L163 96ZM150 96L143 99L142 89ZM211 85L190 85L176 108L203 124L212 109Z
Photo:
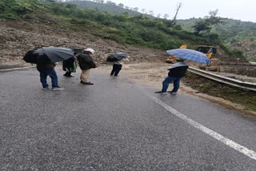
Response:
M89 54L78 54L78 62L81 70L96 68L96 64Z

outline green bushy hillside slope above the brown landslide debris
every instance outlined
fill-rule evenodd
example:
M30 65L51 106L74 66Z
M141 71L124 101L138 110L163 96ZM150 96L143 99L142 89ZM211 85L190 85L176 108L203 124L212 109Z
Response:
M112 5L114 6L114 4ZM101 10L78 9L75 4L53 0L2 0L0 12L0 18L3 19L41 22L59 29L90 33L118 43L159 50L176 49L183 44L190 49L194 49L197 45L210 45L219 46L230 57L242 56L240 51L225 46L218 34L208 30L199 30L200 33L199 31L196 33L184 30L176 21L167 18L149 18L144 14L130 16L128 13L110 14ZM216 16L211 17L202 23L209 24L219 19Z

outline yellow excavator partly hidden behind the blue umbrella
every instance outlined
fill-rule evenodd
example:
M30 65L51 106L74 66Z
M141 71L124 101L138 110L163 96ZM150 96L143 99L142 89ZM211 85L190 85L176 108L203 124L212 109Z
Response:
M180 46L179 49L186 49L186 45ZM216 57L217 48L215 46L197 46L195 50L206 54L208 58ZM176 56L170 55L170 57L166 59L166 63L175 63L176 58Z

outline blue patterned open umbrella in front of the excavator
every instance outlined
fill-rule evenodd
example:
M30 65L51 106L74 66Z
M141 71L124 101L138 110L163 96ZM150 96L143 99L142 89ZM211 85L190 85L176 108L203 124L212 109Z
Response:
M175 50L166 50L168 54L177 56L178 58L182 58L191 62L199 62L210 64L210 59L206 56L206 54L202 54L196 50L188 50L188 49L175 49Z

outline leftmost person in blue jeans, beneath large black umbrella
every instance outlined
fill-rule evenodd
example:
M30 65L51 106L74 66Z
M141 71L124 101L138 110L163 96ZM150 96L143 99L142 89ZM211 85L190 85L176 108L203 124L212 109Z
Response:
M39 58L37 64L37 70L40 74L40 82L42 83L42 89L49 89L49 85L47 84L47 76L51 78L52 89L54 91L64 90L63 88L58 86L58 76L54 67L56 66L54 63L50 62L50 59ZM40 60L43 60L42 62Z

